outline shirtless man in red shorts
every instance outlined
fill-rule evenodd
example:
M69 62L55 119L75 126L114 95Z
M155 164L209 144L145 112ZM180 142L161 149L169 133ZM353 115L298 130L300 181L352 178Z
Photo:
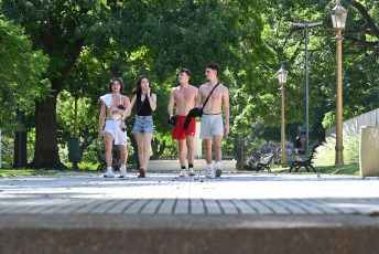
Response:
M188 112L194 107L197 99L197 88L188 84L191 72L186 68L181 68L177 73L178 82L181 86L172 89L170 95L170 102L167 112L170 119L173 121L173 109L176 103L175 115L177 117L176 126L173 127L172 139L177 139L178 146L178 160L181 162L180 177L186 177L185 170L185 147L187 147L187 159L188 159L188 176L195 176L194 160L194 136L196 130L196 119L192 118L188 128L184 129L184 120Z

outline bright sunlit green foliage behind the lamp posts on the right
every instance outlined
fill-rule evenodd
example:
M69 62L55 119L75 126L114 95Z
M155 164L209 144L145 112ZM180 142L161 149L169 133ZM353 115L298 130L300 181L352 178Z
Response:
M357 3L358 2L358 3ZM349 10L347 30L344 32L344 119L379 107L379 80L376 75L378 67L376 45L379 38L373 36L371 29L359 31L367 23L358 7L373 21L379 20L376 3L372 1L345 1L342 4ZM262 40L273 52L273 57L263 61L252 70L253 82L246 80L238 89L240 114L236 117L235 127L248 128L260 123L263 126L279 126L280 92L277 71L280 62L289 71L285 85L285 121L305 121L305 38L304 29L292 25L291 22L322 22L321 25L308 29L308 82L310 82L310 127L311 135L323 137L323 116L335 109L335 32L328 10L334 1L273 1L263 12L264 29ZM368 63L368 61L370 61ZM251 92L250 92L251 91ZM325 119L326 125L333 125L332 119ZM304 124L303 128L304 128ZM325 125L325 126L326 126ZM325 127L324 126L324 127ZM242 128L242 129L243 129ZM322 138L321 138L322 139Z

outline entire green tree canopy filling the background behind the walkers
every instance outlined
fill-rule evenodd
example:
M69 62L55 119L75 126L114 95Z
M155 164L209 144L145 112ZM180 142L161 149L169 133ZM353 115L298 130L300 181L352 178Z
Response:
M377 0L340 2L348 10L343 32L347 119L379 106L379 14ZM98 98L107 93L109 80L122 77L130 95L137 78L147 74L158 94L155 128L159 139L166 140L166 105L170 91L178 85L177 70L190 68L190 83L199 86L206 82L205 65L216 62L221 66L220 82L230 89L236 136L226 142L236 146L242 134L274 140L281 120L277 72L282 64L289 71L288 131L296 135L305 121L305 35L292 22L322 22L308 29L310 124L311 136L318 139L324 127L334 125L336 33L329 15L334 6L328 0L3 0L0 32L6 28L8 32L2 32L0 41L6 49L0 52L4 54L0 96L9 108L35 100L35 156L48 154L52 159L34 166L46 167L59 162L52 147L72 131L69 114L65 114L69 104L59 102L65 110L56 109L61 92L65 94L58 99L82 99L80 136L96 137ZM9 72L9 66L17 67ZM21 89L25 84L28 88ZM14 91L20 93L10 97ZM2 112L0 117L1 123L10 119ZM65 134L56 133L59 126Z

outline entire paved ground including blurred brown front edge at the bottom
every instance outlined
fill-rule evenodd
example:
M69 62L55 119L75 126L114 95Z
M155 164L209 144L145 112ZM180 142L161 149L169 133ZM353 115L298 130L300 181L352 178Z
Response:
M379 178L204 174L0 179L0 253L379 253Z

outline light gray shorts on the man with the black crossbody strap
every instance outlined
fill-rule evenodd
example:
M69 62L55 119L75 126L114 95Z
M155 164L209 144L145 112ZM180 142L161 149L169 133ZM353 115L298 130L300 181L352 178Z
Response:
M224 136L221 115L203 115L201 123L201 139L212 139L215 135Z

